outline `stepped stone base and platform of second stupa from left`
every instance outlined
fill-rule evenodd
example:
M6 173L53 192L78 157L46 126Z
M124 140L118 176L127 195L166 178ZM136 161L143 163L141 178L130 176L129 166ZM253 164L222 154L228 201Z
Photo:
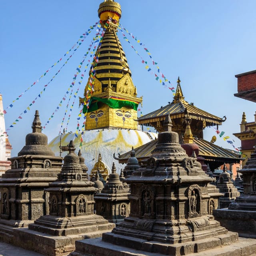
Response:
M47 220L48 226L42 225ZM42 216L41 226L36 222L39 221L29 228L14 229L14 244L48 256L66 256L75 250L76 240L101 237L115 226L96 214L71 218Z

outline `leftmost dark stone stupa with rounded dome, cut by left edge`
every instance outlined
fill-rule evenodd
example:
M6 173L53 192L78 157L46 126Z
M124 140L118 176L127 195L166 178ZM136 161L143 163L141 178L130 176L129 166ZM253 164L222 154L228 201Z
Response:
M26 145L18 156L10 158L11 169L0 179L0 235L3 240L12 238L13 228L27 227L49 213L49 194L44 188L57 180L62 158L54 155L47 140L47 136L42 134L36 110L32 133L27 134Z

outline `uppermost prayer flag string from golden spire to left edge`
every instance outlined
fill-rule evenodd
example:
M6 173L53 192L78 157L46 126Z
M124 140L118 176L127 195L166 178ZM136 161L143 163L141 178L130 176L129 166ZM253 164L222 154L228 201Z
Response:
M84 39L92 32L92 30L96 27L96 25L98 24L99 22L96 22L93 26L90 26L90 28L88 28L88 30L83 33L80 38L78 39L78 41L72 46L72 48L70 48L70 50L68 50L65 54L64 54L64 57L69 54L69 52L71 51L76 51L80 45L82 44L82 42L84 42ZM100 25L98 25L100 27ZM76 47L76 48L75 48ZM74 49L75 48L75 49ZM73 50L74 49L74 50ZM59 62L62 61L62 58L60 58L57 62L55 62L50 68L48 68L48 70L46 70L41 76L40 78L38 78L38 80L36 80L32 85L30 85L30 87L28 87L24 92L22 92L15 100L12 101L12 103L5 109L3 110L3 113L6 114L7 113L7 109L8 108L12 108L13 107L13 103L16 102L16 100L19 100L32 86L34 86L35 84L37 84L40 79L44 76L46 76L46 74L48 74L48 72L54 67L56 66Z

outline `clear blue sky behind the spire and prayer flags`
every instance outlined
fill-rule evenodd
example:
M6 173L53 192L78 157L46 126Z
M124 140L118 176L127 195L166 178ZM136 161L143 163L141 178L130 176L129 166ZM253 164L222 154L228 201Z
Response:
M98 21L100 2L14 0L1 3L0 92L4 108L63 58L80 35ZM160 72L174 87L180 76L185 100L216 116L226 116L227 120L219 130L234 139L236 146L240 146L240 141L232 133L240 131L242 112L246 112L248 122L254 120L255 104L234 97L237 92L234 75L256 69L256 1L120 0L119 3L122 6L122 26L145 44L153 60L158 63ZM41 98L8 131L14 148L12 156L16 156L24 146L25 136L31 132L35 110L40 112L42 125L50 118L69 88L94 34L92 32L84 40ZM123 40L122 34L118 33L118 36L126 52L138 96L144 99L142 113L146 114L172 101L172 92L146 70L141 58ZM140 56L150 63L143 48L128 34L127 37ZM62 64L54 66L40 82L13 103L5 115L6 128L26 110ZM154 73L157 72L152 62L150 67ZM87 75L79 96L82 96L86 82ZM77 90L77 86L76 82L74 90ZM58 135L65 110L66 104L63 104L44 129L49 141ZM78 114L78 104L75 104L68 131L76 129ZM205 129L205 139L210 140L213 135L216 133L212 128ZM218 138L216 144L230 148L222 138Z

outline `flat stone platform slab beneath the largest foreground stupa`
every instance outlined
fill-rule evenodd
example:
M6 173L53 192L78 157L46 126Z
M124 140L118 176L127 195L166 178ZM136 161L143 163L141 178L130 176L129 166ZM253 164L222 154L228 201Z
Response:
M152 243L134 238L132 248L110 244L102 241L101 238L87 239L76 241L76 250L70 256L156 256L156 253L157 255L161 253L172 256L185 254L189 256L249 256L256 254L256 241L254 239L239 238L236 242L228 244L227 236L237 236L237 234L228 232L228 234L212 239L175 245ZM122 236L118 237L120 244L122 244ZM141 245L140 248L139 245ZM147 251L144 251L145 249Z

